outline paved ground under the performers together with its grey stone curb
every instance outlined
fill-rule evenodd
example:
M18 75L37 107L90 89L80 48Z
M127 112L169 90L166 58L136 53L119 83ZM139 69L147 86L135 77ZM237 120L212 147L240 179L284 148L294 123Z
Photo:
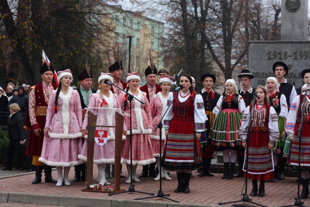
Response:
M142 167L138 166L138 174L141 172ZM93 175L94 182L98 174L97 168L94 165ZM53 177L57 179L56 171L52 173ZM127 175L126 167L123 164L123 175ZM196 171L193 172L194 178L190 180L190 193L175 193L174 189L177 186L177 179L175 172L171 172L170 176L172 180L163 180L162 181L162 191L165 194L170 193L170 198L180 201L180 205L176 206L218 206L219 202L234 201L240 200L242 198L242 192L244 193L244 178L234 178L231 180L221 179L222 174L215 174L214 177L198 177ZM44 174L42 176L44 178ZM69 173L69 180L72 181L74 177L74 167L71 167ZM64 204L60 202L61 199L72 199L72 206L87 206L87 204L75 203L74 200L81 202L79 200L83 198L85 201L89 202L89 206L92 206L93 201L101 201L102 203L109 203L105 206L114 206L113 201L125 200L128 201L127 206L147 206L157 207L157 206L166 206L172 207L174 204L163 198L153 198L139 201L134 201L134 198L141 198L148 196L141 193L123 193L120 195L109 196L108 193L95 193L95 192L83 192L82 189L85 188L85 183L71 182L70 186L56 187L55 184L44 183L32 185L31 181L34 178L34 174L26 173L21 175L15 175L12 177L0 178L0 207L3 206L61 206L67 205L70 206L70 203ZM121 178L121 189L128 190L130 184L124 183L125 178ZM134 183L136 191L145 191L153 192L155 195L159 190L159 181L153 181L153 177L140 178L140 183ZM109 182L113 183L113 179L109 179ZM252 185L251 181L248 182L248 195L251 191ZM301 186L300 186L301 188ZM300 189L301 191L301 189ZM10 196L14 195L15 199L11 200L5 199L5 194L9 192ZM294 204L294 198L297 195L297 183L295 177L285 177L284 180L276 180L275 183L266 183L265 184L265 196L264 197L251 197L253 202L268 206L268 207L278 207L283 205ZM25 197L24 197L25 196ZM27 197L28 196L28 197ZM37 202L33 202L35 196L41 196ZM58 203L48 203L48 201L53 200L57 197ZM25 203L18 201L18 198L25 198ZM27 198L27 199L26 199ZM101 199L101 200L100 200ZM26 202L27 200L27 202ZM41 201L42 200L42 201ZM18 201L18 202L17 202ZM303 199L305 206L310 206L310 199ZM1 203L2 202L2 203ZM32 203L32 205L31 205ZM35 204L35 205L33 205ZM129 205L130 204L130 205ZM242 203L237 203L242 204ZM41 206L40 206L41 205ZM233 205L233 204L230 204ZM116 206L126 206L126 205L116 205Z

